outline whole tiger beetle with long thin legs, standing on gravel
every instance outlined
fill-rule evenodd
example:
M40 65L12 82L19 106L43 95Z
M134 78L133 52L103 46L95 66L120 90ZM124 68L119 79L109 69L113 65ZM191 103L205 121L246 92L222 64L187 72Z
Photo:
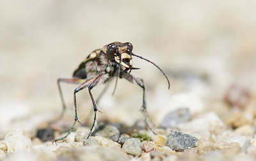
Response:
M154 133L153 127L154 124L150 120L147 109L146 109L146 104L145 104L145 86L143 83L143 80L132 76L131 70L138 70L140 68L134 68L132 67L132 56L140 57L140 59L143 59L145 61L148 61L149 63L152 63L154 66L156 66L166 77L166 80L168 81L168 89L170 89L170 82L168 80L168 77L166 74L157 66L155 63L152 61L149 61L148 59L145 59L141 56L137 56L132 52L132 44L127 42L127 43L120 43L120 42L113 42L110 43L109 45L105 45L102 47L102 49L97 49L94 50L91 54L89 54L86 59L76 68L75 72L73 73L73 79L58 79L58 88L60 91L60 96L61 96L61 102L63 104L63 111L61 112L60 118L63 116L63 113L66 109L66 105L64 103L63 95L61 92L60 88L60 82L68 82L68 83L74 83L74 84L80 84L75 90L74 90L74 117L75 121L72 125L72 128L68 132L65 137L61 139L54 140L52 144L56 141L60 141L65 139L71 132L74 130L74 127L76 125L76 122L78 121L81 123L78 118L77 118L77 103L76 103L76 93L78 91L81 91L81 89L87 88L90 94L90 97L92 99L93 103L93 110L94 110L94 120L92 124L92 128L90 129L90 132L88 134L88 137L92 134L96 124L97 124L97 105L96 102L92 96L91 90L95 87L98 86L99 84L102 84L112 77L116 77L116 82L115 82L115 89L116 89L116 83L118 77L125 78L127 81L131 82L132 84L136 84L140 86L143 89L143 103L141 107L141 112L143 113L143 117L145 118L145 121L147 123L148 128ZM112 93L112 95L115 93L115 89ZM100 111L99 111L100 112Z

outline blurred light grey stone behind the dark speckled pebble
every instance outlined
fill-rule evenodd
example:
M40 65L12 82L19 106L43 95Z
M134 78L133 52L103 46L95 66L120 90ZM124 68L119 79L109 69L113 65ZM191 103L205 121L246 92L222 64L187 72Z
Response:
M176 111L172 111L166 114L163 122L161 123L160 127L167 128L167 127L177 127L180 123L186 123L191 119L191 114L189 114L189 109L182 108L177 109Z

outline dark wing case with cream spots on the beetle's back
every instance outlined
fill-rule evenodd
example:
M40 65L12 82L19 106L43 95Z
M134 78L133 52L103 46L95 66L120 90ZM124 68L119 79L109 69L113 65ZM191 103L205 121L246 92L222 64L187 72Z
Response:
M73 77L77 79L86 79L90 77L90 73L95 73L96 66L99 63L97 59L99 58L100 49L94 50L91 54L89 54L84 61L76 68L73 73ZM97 63L97 64L95 64Z

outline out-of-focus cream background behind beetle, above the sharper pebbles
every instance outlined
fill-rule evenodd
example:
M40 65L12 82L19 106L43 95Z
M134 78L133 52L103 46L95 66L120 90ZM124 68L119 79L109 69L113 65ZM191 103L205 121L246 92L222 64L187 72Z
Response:
M230 106L255 109L256 1L1 1L0 139L13 127L36 128L61 113L57 79L71 78L85 57L111 42L131 42L143 78L147 109L159 125L180 107L193 114ZM142 89L119 79L102 96L100 120L133 125L142 114ZM72 126L73 92L61 84ZM93 88L95 98L104 85ZM78 118L86 121L88 90L77 94ZM237 103L238 102L238 103ZM248 103L249 102L249 103ZM254 103L250 103L254 102ZM90 123L93 114L90 115ZM77 125L78 126L78 125Z

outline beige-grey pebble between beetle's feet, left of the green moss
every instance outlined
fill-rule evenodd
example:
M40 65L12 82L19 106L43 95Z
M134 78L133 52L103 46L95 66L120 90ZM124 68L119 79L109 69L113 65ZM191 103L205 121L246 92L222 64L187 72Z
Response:
M118 128L113 125L101 125L97 130L95 130L95 136L102 136L107 139L113 134L120 134Z

